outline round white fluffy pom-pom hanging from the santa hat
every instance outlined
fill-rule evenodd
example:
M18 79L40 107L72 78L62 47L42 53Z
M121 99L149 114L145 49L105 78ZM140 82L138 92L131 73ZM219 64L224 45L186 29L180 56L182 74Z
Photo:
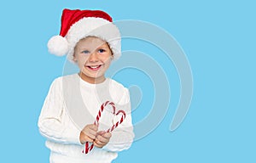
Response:
M49 53L55 54L57 56L63 56L68 52L68 42L65 37L54 36L49 39L47 43Z

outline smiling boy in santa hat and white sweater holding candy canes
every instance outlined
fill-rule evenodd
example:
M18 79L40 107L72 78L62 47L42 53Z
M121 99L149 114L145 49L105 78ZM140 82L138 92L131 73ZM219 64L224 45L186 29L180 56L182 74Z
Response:
M120 55L119 29L103 11L64 9L60 36L52 37L48 48L59 56L67 53L79 66L78 74L55 79L39 116L50 163L111 162L134 138L129 91L104 76ZM94 123L96 117L99 123ZM106 132L117 123L113 132ZM84 154L88 143L94 149Z

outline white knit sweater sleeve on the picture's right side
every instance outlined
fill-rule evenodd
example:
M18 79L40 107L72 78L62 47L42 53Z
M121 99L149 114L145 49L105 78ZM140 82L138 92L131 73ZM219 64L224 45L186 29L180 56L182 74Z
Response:
M119 106L125 107L121 108L122 110L125 110L125 120L121 123L121 125L113 130L112 137L110 138L109 143L103 147L103 149L112 152L129 149L134 138L133 126L131 121L130 93L125 87L123 95L119 100Z

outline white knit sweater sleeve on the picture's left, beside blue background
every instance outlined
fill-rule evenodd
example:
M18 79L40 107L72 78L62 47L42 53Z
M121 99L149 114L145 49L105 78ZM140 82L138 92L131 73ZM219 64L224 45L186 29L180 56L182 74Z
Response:
M55 79L49 88L38 119L40 133L49 141L80 144L79 129L67 116L62 93L61 77Z

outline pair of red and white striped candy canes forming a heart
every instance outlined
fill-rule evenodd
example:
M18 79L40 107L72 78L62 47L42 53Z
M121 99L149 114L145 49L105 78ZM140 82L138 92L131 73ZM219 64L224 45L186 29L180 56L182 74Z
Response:
M124 110L119 110L117 113L115 113L115 105L113 104L113 102L110 101L106 101L105 103L102 104L101 109L98 112L98 115L96 116L96 121L94 121L94 124L96 126L99 125L99 121L101 119L102 116L102 111L105 109L105 107L107 105L111 105L112 109L113 109L113 115L119 115L119 113L122 114L121 118L119 119L119 121L117 121L115 124L113 124L113 126L111 126L110 128L108 128L107 132L112 132L116 127L119 126L119 124L121 124L124 120L125 120L125 111ZM84 154L88 154L90 152L90 150L92 150L94 147L93 143L89 143L89 142L85 142L84 143L84 149L83 149L83 153Z

